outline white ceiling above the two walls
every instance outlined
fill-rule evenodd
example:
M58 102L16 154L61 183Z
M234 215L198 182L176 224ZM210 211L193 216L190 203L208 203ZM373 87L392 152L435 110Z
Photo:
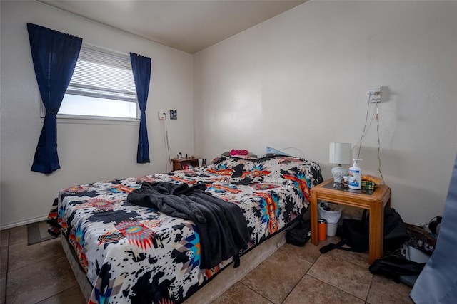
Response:
M306 2L38 1L191 54Z

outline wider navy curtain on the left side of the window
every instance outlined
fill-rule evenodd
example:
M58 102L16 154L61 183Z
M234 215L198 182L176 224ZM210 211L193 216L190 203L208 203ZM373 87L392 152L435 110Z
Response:
M57 155L57 119L73 75L82 39L27 23L36 81L46 115L31 171L52 173L60 168Z

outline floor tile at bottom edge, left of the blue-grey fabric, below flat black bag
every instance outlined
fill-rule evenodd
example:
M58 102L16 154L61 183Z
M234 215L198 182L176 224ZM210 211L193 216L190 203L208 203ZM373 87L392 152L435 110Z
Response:
M395 283L384 276L373 276L371 288L368 292L367 303L414 303L409 298L411 288L403 283Z

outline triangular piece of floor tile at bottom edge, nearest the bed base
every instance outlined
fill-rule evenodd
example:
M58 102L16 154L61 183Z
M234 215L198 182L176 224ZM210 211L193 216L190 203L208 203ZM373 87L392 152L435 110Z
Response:
M242 283L235 283L229 290L223 293L219 298L216 298L212 304L269 304L271 303L266 298L248 288Z

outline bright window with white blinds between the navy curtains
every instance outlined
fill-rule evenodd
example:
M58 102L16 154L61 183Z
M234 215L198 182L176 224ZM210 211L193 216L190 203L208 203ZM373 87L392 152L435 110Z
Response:
M58 117L139 119L129 55L83 44Z

